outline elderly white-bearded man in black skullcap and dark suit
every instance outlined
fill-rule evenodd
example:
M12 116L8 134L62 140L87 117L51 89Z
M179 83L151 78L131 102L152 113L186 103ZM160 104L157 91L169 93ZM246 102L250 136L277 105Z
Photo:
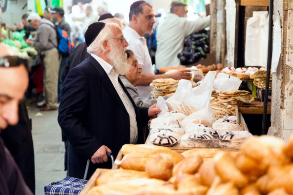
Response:
M106 152L117 156L126 143L144 143L143 126L160 109L136 107L118 77L128 72L127 41L119 26L96 22L85 32L90 54L66 76L58 122L68 138L68 176L87 179L97 168L111 168Z

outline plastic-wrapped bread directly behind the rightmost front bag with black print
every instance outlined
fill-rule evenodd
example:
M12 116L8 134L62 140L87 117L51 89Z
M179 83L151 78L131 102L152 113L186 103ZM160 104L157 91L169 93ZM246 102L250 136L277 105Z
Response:
M243 131L244 129L236 122L236 116L224 116L219 118L212 124L212 128L218 132L219 135L225 134L227 131Z

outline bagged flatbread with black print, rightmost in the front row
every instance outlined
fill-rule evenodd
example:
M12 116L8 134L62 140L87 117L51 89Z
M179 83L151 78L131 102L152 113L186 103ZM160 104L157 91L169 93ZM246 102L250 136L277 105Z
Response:
M247 131L227 131L219 136L219 148L240 149L243 142L251 137Z

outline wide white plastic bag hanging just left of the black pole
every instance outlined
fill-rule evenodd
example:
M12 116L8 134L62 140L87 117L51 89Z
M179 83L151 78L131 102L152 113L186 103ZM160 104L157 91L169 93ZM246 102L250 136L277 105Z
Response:
M245 65L267 67L269 17L267 11L253 12L247 20Z

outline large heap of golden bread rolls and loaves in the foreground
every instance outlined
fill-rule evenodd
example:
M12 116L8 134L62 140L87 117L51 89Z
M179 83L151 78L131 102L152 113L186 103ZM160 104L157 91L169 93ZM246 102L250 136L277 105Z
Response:
M139 155L133 151L128 155L148 158L144 171L109 170L86 194L292 195L292 151L293 136L287 143L270 136L250 137L238 152L152 150Z

